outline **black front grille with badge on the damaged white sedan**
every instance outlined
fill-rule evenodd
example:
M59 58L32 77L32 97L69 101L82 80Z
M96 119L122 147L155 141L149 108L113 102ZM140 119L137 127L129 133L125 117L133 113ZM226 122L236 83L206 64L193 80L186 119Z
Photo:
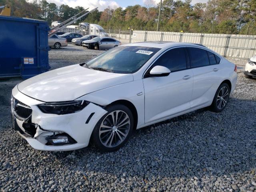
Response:
M12 112L19 120L26 120L32 115L30 106L20 102L16 98L12 98Z

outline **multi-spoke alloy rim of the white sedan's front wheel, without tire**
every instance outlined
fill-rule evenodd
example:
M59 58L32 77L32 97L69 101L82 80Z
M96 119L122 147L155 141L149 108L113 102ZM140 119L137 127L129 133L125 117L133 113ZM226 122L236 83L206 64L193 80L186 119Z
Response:
M128 136L130 118L126 112L115 110L110 112L100 125L100 142L109 148L120 145Z

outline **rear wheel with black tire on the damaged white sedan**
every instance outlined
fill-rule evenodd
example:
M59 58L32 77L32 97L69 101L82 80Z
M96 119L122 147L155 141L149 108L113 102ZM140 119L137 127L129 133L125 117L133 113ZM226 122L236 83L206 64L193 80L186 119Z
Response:
M227 95L226 95L226 90L228 91ZM220 97L221 94L223 94L223 97ZM215 93L215 96L212 101L212 105L210 106L210 110L217 113L222 112L228 104L229 95L230 95L229 85L226 83L221 84ZM224 103L225 101L226 103Z

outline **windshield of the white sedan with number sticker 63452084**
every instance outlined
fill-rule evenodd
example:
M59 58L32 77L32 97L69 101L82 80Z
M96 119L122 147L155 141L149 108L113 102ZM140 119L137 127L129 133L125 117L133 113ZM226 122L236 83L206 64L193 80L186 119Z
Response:
M118 46L87 62L89 68L102 68L115 73L134 73L160 48Z

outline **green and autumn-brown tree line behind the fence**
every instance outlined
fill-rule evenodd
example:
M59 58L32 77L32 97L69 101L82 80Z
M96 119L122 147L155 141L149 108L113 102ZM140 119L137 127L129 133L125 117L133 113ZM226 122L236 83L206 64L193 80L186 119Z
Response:
M0 0L10 4L12 16L52 21L64 21L84 8L57 6L46 0ZM108 7L95 10L79 22L99 24L105 29L156 30L160 4L146 0L144 6ZM209 0L191 4L191 0L163 0L159 30L172 32L253 34L256 35L256 0ZM76 23L78 24L78 23Z

